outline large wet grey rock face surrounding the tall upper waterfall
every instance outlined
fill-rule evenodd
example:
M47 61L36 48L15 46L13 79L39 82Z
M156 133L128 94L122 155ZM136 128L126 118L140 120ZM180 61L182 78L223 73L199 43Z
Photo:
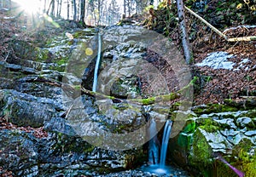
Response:
M81 94L81 85L88 89L92 85L97 54L94 29L69 31L40 47L13 43L19 58L0 62L0 167L16 176L74 176L106 174L146 162L143 126L149 116L163 126L169 111L169 106L147 108L136 100L147 98L140 80L145 68L151 74L148 81L159 83L152 88L154 94L169 93L158 70L148 68L143 60L155 34L138 26L113 26L102 32L99 97ZM44 134L36 136L37 128ZM137 137L128 137L133 131ZM121 134L126 141L108 134ZM90 139L93 146L87 142Z

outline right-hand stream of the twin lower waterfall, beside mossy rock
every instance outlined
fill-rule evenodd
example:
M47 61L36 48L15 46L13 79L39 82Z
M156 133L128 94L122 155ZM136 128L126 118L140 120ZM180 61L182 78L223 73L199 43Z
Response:
M161 151L160 151L160 167L163 167L166 164L166 152L167 152L171 130L172 130L172 121L167 120L165 129L164 129L163 139L162 139Z

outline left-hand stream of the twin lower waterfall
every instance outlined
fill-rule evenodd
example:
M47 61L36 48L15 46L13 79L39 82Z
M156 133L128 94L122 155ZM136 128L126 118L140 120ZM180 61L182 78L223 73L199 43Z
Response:
M149 136L153 137L149 140L148 145L148 162L151 164L159 163L159 141L157 139L157 129L154 118L151 119L149 125Z

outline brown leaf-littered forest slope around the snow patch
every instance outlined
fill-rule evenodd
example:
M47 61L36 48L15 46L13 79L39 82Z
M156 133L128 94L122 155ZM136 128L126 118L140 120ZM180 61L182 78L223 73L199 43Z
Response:
M143 26L147 26L154 31L160 31L165 34L160 25L154 26L155 21L158 24L166 23L161 21L160 17L164 16L166 9L154 12L156 16L134 15L131 20L144 21ZM151 13L152 14L152 13ZM191 72L194 77L198 77L195 83L195 105L207 103L223 104L224 100L230 99L235 102L241 102L245 98L255 98L256 96L256 41L228 42L224 37L218 36L211 31L209 27L201 21L187 15L187 29L189 33L190 48L193 53L193 65ZM148 18L148 16L150 16ZM146 23L145 23L146 21ZM172 22L173 23L173 22ZM196 24L196 25L195 25ZM193 27L195 26L195 27ZM252 24L242 24L236 21L232 26L225 26L224 35L232 37L249 37L256 36L256 26ZM180 31L175 24L170 25L167 36L172 38L172 42L182 49ZM181 50L182 51L182 50ZM209 66L196 66L206 59L209 54L214 52L226 52L233 57L229 61L235 63L233 69L212 69ZM244 60L248 61L243 63ZM241 67L242 64L242 67Z

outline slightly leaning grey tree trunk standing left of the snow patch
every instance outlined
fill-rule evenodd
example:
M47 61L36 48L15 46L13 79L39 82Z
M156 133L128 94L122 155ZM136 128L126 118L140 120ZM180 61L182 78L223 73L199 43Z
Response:
M177 0L177 15L178 15L178 20L179 20L180 30L182 32L182 43L183 43L183 51L184 51L184 55L185 55L185 60L186 60L187 64L189 64L191 52L189 49L189 37L188 37L187 29L186 29L183 0Z

